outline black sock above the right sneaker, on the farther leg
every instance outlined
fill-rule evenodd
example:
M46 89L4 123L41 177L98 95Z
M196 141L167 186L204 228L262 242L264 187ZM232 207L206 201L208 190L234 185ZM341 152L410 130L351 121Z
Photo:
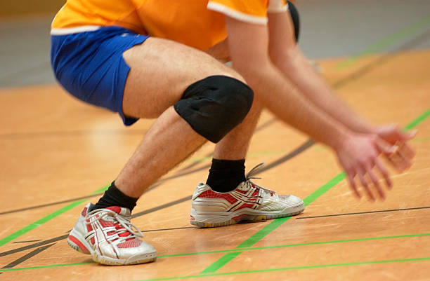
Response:
M233 191L238 184L245 180L245 159L212 159L206 184L211 186L213 191L229 192Z

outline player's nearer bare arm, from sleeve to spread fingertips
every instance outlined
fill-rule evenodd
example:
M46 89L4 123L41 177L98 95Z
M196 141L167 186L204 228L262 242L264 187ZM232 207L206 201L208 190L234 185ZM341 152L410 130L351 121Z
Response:
M306 132L313 139L331 146L339 163L348 174L353 191L359 196L353 178L358 175L370 198L374 196L366 180L366 174L380 197L384 191L372 172L375 165L391 186L384 165L379 163L379 153L392 153L393 147L374 134L358 134L317 107L294 86L268 55L268 29L226 17L228 45L233 67L259 95L263 103L278 118L294 128Z

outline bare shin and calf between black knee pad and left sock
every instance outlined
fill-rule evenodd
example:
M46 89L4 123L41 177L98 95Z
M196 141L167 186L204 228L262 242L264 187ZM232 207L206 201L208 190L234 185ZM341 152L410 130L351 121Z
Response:
M126 195L138 198L150 184L204 142L206 139L194 132L173 107L169 107L148 130L115 184Z

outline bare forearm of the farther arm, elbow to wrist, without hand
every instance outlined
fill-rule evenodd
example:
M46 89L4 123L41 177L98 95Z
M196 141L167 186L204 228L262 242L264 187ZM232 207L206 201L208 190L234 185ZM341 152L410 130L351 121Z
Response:
M286 50L278 57L271 56L273 63L287 76L300 92L316 107L325 111L332 118L344 124L353 132L373 132L372 125L367 123L341 102L330 87L308 64L306 58L297 48Z

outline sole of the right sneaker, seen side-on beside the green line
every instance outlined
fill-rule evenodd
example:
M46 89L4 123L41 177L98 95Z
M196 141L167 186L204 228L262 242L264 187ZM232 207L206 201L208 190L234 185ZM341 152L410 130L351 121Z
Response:
M263 212L249 208L243 208L236 212L197 212L192 208L190 224L200 228L230 226L241 222L258 222L281 217L292 217L303 211L303 202L279 212Z

